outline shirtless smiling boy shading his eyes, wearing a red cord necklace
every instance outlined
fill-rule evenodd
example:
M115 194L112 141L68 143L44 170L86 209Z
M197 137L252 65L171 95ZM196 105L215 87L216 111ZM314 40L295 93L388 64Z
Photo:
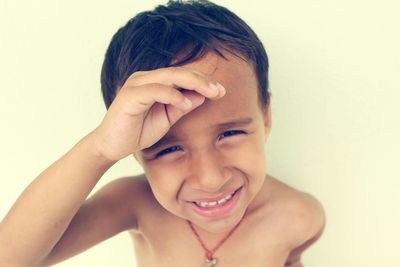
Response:
M129 231L139 267L302 266L324 214L267 174L267 71L254 32L210 2L131 19L104 61L104 120L16 201L0 265L49 266ZM86 200L128 155L144 174Z

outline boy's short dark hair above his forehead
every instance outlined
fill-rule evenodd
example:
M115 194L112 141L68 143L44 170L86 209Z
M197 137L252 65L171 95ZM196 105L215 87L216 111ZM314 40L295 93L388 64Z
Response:
M184 65L209 51L223 57L221 48L254 66L261 107L268 107L268 57L262 43L237 15L205 0L169 1L139 13L115 33L101 70L106 107L133 72ZM182 57L173 62L177 55Z

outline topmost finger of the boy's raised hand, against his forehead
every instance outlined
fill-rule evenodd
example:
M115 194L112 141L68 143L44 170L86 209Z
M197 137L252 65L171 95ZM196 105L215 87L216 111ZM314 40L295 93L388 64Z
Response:
M224 86L212 77L186 67L169 67L136 72L131 75L127 82L131 83L131 86L161 83L171 87L193 90L210 99L221 98L226 93Z

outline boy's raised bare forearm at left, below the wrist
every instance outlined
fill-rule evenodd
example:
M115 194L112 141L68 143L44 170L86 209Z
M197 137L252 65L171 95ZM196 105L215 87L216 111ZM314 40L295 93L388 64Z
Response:
M96 153L89 134L41 173L0 224L0 265L42 261L113 164Z

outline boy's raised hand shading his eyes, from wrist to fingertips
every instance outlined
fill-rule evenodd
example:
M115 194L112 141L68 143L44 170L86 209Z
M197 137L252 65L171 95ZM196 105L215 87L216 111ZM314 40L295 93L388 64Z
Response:
M118 90L104 120L92 133L100 154L120 160L160 140L182 116L224 87L199 71L169 67L133 73Z

